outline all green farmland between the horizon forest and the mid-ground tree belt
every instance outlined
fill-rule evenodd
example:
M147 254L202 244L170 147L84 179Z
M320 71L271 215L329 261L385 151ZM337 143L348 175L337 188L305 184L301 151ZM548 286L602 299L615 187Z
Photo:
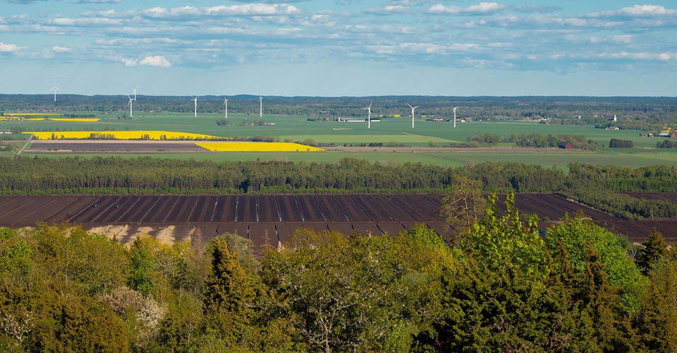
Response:
M533 122L472 122L458 123L453 128L449 123L435 123L418 119L411 128L407 118L384 119L374 122L371 129L367 124L337 121L307 121L307 116L229 114L231 125L216 126L215 121L223 119L222 114L186 113L136 113L134 119L116 119L115 114L97 114L97 122L63 121L0 121L0 129L22 128L24 131L107 131L107 130L166 130L190 133L206 133L216 136L279 136L280 140L314 140L316 143L401 143L410 146L449 145L464 142L468 136L492 133L501 136L523 133L553 135L583 135L608 145L611 138L633 140L637 148L601 148L595 153L509 153L509 152L220 152L199 154L162 154L156 157L197 158L207 160L307 160L329 162L342 157L361 158L379 162L422 162L441 165L463 165L468 162L525 162L542 165L565 166L571 162L591 164L616 164L640 166L648 164L677 165L677 151L647 149L654 147L659 138L641 137L640 131L606 131L592 126L546 125ZM241 126L246 120L274 123L274 126ZM511 143L501 143L511 147ZM25 154L29 155L29 154ZM126 157L137 155L125 155Z

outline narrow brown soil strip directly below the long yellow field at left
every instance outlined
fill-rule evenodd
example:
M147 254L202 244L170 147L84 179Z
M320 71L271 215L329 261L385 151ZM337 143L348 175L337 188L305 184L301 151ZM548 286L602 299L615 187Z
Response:
M209 152L195 141L34 140L25 152Z

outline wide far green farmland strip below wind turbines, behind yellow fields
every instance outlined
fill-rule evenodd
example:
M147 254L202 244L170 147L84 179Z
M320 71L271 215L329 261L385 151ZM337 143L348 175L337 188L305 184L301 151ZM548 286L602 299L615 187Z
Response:
M370 143L398 142L407 145L427 145L429 143L448 144L465 142L468 136L483 133L508 136L511 134L543 133L553 135L584 135L606 145L611 138L633 140L638 147L654 147L658 138L639 136L636 130L607 131L593 126L547 125L523 121L487 121L459 123L452 128L449 123L435 123L417 119L416 127L411 128L411 119L389 118L372 124L339 123L336 121L307 121L302 115L266 115L262 120L274 123L274 126L243 126L244 121L257 121L258 116L248 114L228 114L230 125L215 126L214 121L223 119L223 114L183 113L138 113L134 119L116 119L112 114L97 114L97 122L63 121L0 121L0 128L23 128L24 131L124 131L124 130L163 130L202 133L214 136L279 136L281 140L312 139L318 143Z

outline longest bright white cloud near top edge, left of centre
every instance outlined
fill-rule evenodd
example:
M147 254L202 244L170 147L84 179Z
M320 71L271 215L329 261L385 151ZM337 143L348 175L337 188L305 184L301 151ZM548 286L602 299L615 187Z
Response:
M275 16L293 15L300 10L288 4L242 4L213 7L183 6L175 8L154 7L141 11L150 18L181 19L199 16Z

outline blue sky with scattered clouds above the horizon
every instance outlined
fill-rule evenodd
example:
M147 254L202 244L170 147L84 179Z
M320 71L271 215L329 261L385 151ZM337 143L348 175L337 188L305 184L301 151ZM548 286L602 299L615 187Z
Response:
M0 0L0 93L677 96L677 1Z

